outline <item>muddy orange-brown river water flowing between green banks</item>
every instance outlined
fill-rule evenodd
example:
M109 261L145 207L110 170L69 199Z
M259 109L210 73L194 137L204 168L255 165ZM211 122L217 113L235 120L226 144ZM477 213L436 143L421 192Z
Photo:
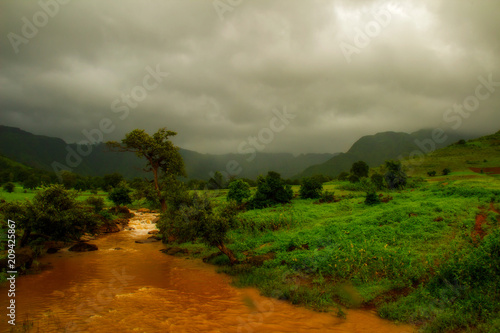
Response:
M146 239L155 215L136 213L131 231L90 243L98 251L63 249L40 259L41 273L16 281L16 329L30 332L370 332L410 333L375 313L349 310L346 319L316 313L238 289L199 260L161 253ZM7 288L0 329L8 332Z

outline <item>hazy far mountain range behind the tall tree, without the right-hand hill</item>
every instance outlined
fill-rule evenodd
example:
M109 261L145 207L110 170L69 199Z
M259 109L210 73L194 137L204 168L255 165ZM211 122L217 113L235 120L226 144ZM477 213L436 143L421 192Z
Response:
M90 176L103 176L119 172L126 178L143 177L145 160L133 153L108 151L105 144L92 146L88 156L82 147L67 144L64 140L43 135L35 135L19 128L0 125L0 154L30 167L53 171L53 163L70 167L72 171ZM232 173L239 171L238 177L255 179L260 174L274 170L285 178L301 172L307 167L323 163L335 154L302 154L293 156L287 153L241 154L200 154L180 149L191 179L208 180L216 171ZM234 168L234 161L238 168Z

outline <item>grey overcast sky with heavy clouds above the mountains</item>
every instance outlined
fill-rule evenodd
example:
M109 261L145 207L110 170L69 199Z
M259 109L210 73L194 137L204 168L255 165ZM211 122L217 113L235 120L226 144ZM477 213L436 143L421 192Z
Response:
M167 127L203 153L249 136L267 152L333 153L382 131L500 129L497 0L4 0L0 12L0 124L67 142L105 118L106 141ZM450 109L464 101L473 111Z

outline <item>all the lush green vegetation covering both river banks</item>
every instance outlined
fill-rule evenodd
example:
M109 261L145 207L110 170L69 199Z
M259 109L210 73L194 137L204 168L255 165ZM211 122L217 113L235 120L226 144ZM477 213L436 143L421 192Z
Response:
M4 220L20 221L19 239L28 243L33 234L58 240L95 232L111 201L162 207L163 240L211 258L238 286L339 316L375 307L424 332L497 332L499 145L500 132L457 142L418 165L388 160L369 169L356 159L337 180L316 175L300 185L276 172L256 181L216 172L207 183L186 184L176 177L181 168L165 172L165 159L154 181L66 172L63 185L30 188L9 176L4 184L14 188L0 193L7 201L0 210ZM172 154L157 156L181 167L175 147L167 148ZM31 201L16 201L23 196Z

